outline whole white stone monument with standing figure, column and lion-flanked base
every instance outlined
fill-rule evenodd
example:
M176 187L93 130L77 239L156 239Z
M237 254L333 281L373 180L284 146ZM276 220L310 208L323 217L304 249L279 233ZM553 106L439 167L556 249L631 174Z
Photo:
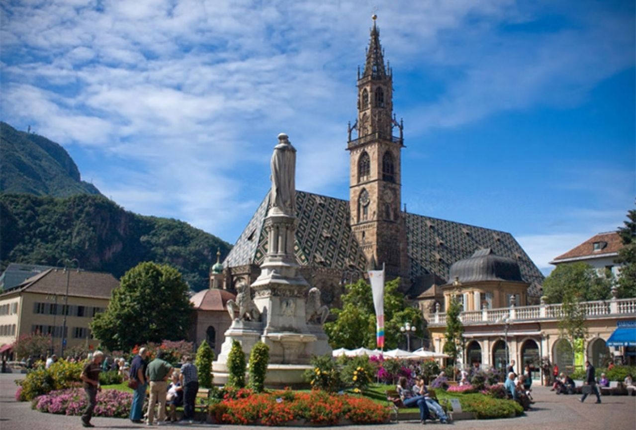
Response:
M329 309L321 305L319 289L311 288L300 274L294 256L296 149L286 134L279 134L278 139L271 162L270 209L265 218L267 255L256 281L251 286L239 282L237 300L228 302L233 322L225 333L221 354L212 364L214 384L227 381L226 363L233 340L240 342L248 357L259 341L270 347L268 386L301 384L311 357L331 354L322 329Z

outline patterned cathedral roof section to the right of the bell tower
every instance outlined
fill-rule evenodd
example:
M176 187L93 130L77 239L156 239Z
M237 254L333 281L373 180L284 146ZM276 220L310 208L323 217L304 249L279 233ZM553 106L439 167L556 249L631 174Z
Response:
M455 261L469 258L477 249L490 248L499 256L518 261L523 279L530 284L529 295L541 295L543 275L510 233L429 216L404 215L411 281L431 274L448 281L448 271Z

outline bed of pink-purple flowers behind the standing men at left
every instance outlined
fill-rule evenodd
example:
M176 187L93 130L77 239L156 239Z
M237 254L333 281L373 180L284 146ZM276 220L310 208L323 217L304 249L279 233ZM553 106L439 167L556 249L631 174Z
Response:
M130 414L130 405L132 405L132 394L129 392L101 391L97 393L94 415L125 418ZM86 396L84 390L79 388L51 391L35 398L32 406L40 412L81 415L86 409Z

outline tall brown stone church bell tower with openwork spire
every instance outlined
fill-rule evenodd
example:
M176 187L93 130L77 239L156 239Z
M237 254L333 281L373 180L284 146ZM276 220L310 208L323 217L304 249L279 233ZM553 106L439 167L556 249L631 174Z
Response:
M357 120L349 124L347 142L350 224L371 265L380 268L384 263L387 275L402 276L404 283L408 256L400 212L403 123L393 114L392 71L384 62L377 16L372 18L363 73L358 69Z

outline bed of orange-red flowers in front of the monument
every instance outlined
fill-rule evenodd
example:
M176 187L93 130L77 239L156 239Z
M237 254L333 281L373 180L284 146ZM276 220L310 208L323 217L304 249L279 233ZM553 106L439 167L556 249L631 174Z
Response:
M223 424L279 426L293 420L314 425L334 425L343 420L356 424L379 424L389 419L389 410L374 401L349 394L291 390L226 396L210 406L210 414Z

